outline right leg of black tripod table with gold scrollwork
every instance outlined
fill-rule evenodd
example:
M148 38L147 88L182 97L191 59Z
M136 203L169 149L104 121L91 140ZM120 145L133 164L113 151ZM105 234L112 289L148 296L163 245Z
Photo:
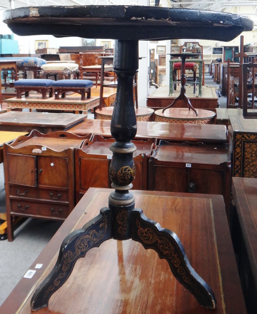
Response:
M186 252L177 235L163 229L154 220L148 219L142 209L132 211L131 238L145 249L153 249L159 258L165 258L175 278L206 308L215 309L215 295L206 282L190 265Z

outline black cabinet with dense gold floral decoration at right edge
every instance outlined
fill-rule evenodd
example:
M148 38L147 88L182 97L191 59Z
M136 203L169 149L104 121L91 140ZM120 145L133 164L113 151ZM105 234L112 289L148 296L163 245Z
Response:
M228 136L232 176L257 178L257 120L229 116Z

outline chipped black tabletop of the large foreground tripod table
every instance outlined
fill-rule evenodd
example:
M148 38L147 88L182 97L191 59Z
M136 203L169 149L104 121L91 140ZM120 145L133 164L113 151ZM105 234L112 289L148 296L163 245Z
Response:
M132 5L25 7L7 10L2 17L17 35L124 40L230 41L254 26L251 19L237 14Z

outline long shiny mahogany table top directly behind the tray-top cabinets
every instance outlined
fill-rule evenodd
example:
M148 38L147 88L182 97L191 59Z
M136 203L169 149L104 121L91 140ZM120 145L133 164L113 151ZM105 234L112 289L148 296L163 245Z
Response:
M89 119L70 128L69 132L77 135L92 133L111 137L110 124L110 120ZM215 144L224 144L228 141L226 126L224 125L146 121L137 122L136 138L167 139L173 142L197 141Z

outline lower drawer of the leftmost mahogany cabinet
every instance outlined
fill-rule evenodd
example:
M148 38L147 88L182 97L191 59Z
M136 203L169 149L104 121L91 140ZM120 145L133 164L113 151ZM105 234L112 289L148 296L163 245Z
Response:
M37 203L26 200L10 200L11 214L34 217L64 219L70 214L69 207L52 203Z

